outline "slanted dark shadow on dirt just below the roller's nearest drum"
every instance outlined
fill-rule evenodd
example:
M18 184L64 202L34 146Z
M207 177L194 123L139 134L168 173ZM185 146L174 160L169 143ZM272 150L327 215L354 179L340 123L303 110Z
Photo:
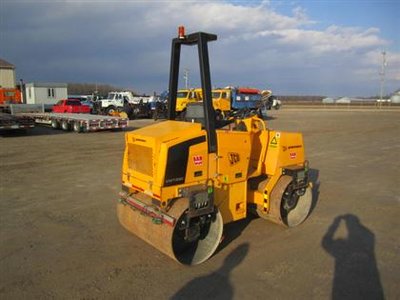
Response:
M225 258L219 269L189 281L170 299L233 299L234 288L230 282L230 274L240 265L248 252L248 243L239 245Z

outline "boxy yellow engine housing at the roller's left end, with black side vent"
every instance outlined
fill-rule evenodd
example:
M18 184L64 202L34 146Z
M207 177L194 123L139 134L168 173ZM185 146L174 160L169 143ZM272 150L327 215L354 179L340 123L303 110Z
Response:
M185 148L189 151L186 161L171 159L167 166L168 151L172 153L174 146L178 145L174 155L181 155L180 145L193 139L200 140L200 143ZM127 133L125 141L122 184L158 199L163 206L179 196L179 187L205 183L208 178L206 134L200 124L165 121ZM198 155L204 161L195 165L193 157ZM182 176L167 178L167 167L177 168L186 163L188 169L180 172ZM201 175L195 177L195 173ZM173 185L178 181L183 183Z

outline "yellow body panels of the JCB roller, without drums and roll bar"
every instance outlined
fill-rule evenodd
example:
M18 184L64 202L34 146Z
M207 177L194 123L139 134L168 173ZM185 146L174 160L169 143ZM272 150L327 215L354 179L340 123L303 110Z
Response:
M249 125L260 122L253 117ZM196 143L188 148L182 146L193 140ZM245 218L247 203L264 205L264 194L248 189L250 178L268 176L271 184L266 189L271 193L284 167L304 164L300 133L228 127L217 130L218 152L208 155L206 133L200 124L165 121L127 133L125 141L122 184L130 192L142 192L159 201L160 207L167 207L182 196L182 187L212 181L224 223ZM169 160L168 153L174 155L174 148L177 160ZM167 178L167 168L178 166L186 166L181 168L184 172Z

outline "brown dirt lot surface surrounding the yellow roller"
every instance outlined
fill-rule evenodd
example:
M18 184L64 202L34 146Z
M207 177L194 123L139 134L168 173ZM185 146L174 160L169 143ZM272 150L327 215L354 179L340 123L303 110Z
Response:
M124 132L0 135L0 298L400 299L400 112L270 118L304 133L311 216L289 230L257 218L228 225L195 267L119 225Z

